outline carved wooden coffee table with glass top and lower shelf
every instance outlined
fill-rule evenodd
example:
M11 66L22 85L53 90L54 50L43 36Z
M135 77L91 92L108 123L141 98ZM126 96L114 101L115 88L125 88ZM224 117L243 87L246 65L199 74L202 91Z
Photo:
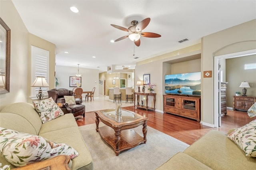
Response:
M148 118L132 111L122 109L121 115L116 115L115 109L95 111L96 131L114 149L116 156L123 150L138 146L147 141ZM102 121L106 126L99 127ZM143 137L132 128L142 125Z

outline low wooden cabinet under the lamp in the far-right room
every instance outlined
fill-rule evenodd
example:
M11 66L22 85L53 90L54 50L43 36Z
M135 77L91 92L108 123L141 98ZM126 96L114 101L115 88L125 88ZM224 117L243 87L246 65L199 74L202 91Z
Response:
M233 110L248 111L256 102L256 97L250 96L233 96Z

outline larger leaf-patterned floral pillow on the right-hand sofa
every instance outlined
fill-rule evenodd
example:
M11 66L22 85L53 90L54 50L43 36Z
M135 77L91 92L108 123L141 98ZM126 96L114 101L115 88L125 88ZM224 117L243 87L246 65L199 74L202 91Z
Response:
M236 128L228 134L228 138L233 140L246 156L256 157L256 120Z

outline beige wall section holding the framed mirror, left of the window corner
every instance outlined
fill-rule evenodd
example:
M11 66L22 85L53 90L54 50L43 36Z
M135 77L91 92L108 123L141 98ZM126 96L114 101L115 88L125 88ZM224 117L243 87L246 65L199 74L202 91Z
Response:
M0 1L0 17L11 29L10 93L0 95L0 110L28 100L28 30L12 1Z

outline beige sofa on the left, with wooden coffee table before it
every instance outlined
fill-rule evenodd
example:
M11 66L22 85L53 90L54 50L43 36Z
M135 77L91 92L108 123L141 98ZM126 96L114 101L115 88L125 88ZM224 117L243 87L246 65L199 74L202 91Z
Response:
M79 153L76 158L72 159L71 169L93 169L92 157L71 113L42 124L32 104L13 103L0 111L0 127L35 134L54 142L68 144ZM0 154L0 162L3 165L10 164L2 154ZM11 168L14 166L11 165Z

